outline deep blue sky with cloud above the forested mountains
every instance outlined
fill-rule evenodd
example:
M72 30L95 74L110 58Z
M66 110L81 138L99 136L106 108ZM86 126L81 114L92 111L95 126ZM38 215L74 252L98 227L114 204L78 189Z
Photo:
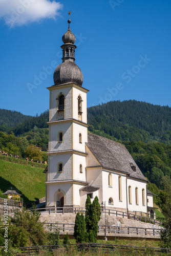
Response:
M24 7L25 5L25 7ZM169 0L0 1L1 109L49 109L62 35L76 36L75 63L88 106L135 99L170 104ZM36 78L36 79L35 79Z

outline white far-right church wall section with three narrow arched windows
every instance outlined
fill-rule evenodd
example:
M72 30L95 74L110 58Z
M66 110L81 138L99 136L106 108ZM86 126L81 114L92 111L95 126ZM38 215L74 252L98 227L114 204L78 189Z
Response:
M129 186L132 190L132 204L129 203ZM138 187L138 205L136 205L135 188ZM142 205L142 189L145 191L145 205ZM127 178L127 206L130 211L143 211L147 212L146 205L146 182L137 181L134 179Z

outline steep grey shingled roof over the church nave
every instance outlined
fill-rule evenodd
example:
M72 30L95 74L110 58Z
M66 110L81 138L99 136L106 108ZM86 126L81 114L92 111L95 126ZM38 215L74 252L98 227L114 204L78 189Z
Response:
M88 133L86 144L104 169L118 170L132 178L147 181L123 144L91 133ZM132 164L136 170L133 170Z

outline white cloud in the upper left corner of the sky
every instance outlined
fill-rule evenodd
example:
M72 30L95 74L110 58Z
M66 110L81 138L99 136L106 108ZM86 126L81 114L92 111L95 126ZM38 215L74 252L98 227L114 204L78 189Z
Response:
M50 0L0 0L0 19L10 28L44 18L60 16L58 12L63 5Z

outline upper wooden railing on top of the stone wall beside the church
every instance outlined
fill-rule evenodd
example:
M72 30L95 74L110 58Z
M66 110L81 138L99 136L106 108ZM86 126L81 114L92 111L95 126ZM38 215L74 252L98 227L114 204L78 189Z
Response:
M61 213L64 214L65 212L71 212L73 214L77 214L77 212L82 212L85 213L86 212L86 208L85 207L47 207L47 208L40 208L37 209L40 211L48 211L49 214L51 214L51 212L56 212L56 213ZM101 208L101 213L104 214L104 212L108 215L114 215L116 217L119 218L127 218L127 219L131 219L131 220L138 220L141 222L147 222L147 223L152 223L152 224L157 224L157 225L162 225L162 222L160 220L155 220L153 218L150 217L146 217L146 216L142 216L141 215L135 215L135 214L131 214L131 213L127 213L124 211L119 211L119 210L113 210L113 209L106 209L104 210L104 208Z

